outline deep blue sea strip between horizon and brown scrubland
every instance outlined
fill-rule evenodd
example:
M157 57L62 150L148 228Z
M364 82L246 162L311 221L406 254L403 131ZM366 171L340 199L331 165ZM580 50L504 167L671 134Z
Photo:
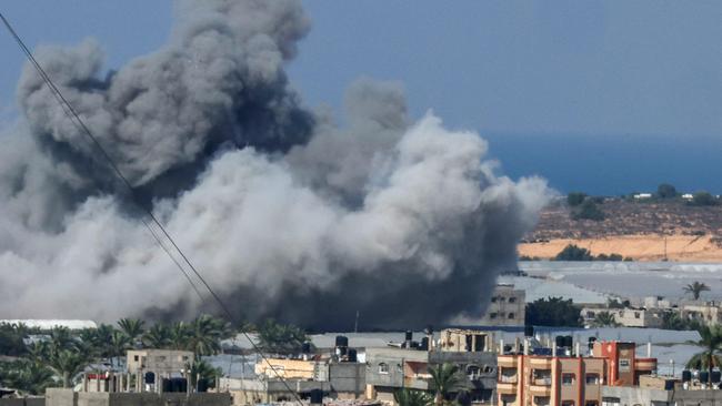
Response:
M574 136L483 134L500 172L513 179L540 175L561 193L594 195L654 192L722 193L722 136Z

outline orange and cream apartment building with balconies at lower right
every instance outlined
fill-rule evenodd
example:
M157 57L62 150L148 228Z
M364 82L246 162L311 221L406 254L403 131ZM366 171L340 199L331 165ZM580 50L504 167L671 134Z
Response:
M502 354L498 403L503 406L599 406L602 386L632 386L656 371L656 358L638 358L634 343L594 343L592 356ZM563 352L560 348L560 354Z

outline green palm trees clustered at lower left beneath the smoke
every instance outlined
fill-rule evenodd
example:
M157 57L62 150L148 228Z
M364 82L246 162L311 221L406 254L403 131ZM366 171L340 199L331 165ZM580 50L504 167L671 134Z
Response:
M307 339L293 326L274 322L264 326L268 328L261 335L269 348L297 351ZM74 332L63 327L42 332L22 324L0 324L0 355L18 357L0 362L0 384L22 394L42 394L49 386L72 387L90 364L118 366L119 357L130 348L161 348L193 352L191 384L205 389L214 385L220 371L201 357L220 353L221 341L234 334L229 323L209 315L191 322L156 323L148 328L143 321L122 318L117 327L100 324L98 328ZM24 339L30 336L34 336L33 342L26 345Z

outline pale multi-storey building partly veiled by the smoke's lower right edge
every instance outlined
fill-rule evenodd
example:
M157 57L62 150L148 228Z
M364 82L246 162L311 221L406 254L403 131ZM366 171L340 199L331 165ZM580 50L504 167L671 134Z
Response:
M480 323L483 326L523 326L525 308L524 291L515 290L512 284L499 284Z

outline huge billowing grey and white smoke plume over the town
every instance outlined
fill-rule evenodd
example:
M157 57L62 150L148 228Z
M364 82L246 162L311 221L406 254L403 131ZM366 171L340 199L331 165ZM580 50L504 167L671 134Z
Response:
M239 316L322 328L479 314L548 195L498 176L485 142L398 83L360 79L345 125L283 71L298 1L195 1L161 50L101 75L97 43L37 55L178 244ZM201 303L97 150L26 67L0 135L4 317L192 316Z

